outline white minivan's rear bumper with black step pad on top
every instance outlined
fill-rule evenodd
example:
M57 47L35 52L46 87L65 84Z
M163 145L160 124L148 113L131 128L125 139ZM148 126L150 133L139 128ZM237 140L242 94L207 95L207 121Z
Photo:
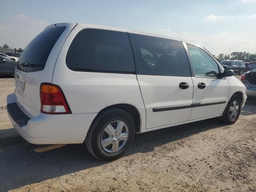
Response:
M17 132L32 144L82 143L97 115L90 114L40 114L29 119L16 105L7 105L9 118Z

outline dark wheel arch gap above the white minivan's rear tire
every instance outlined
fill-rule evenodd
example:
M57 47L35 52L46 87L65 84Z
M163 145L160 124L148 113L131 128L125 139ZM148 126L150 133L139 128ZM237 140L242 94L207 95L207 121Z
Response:
M98 119L98 117L106 112L107 110L110 110L112 108L117 108L117 109L121 109L126 111L128 114L130 114L132 116L132 119L134 121L135 124L135 131L136 132L140 132L141 129L141 115L138 111L138 109L131 105L131 104L125 104L125 103L121 103L121 104L113 104L110 106L107 106L105 108L103 108L102 110L100 110L100 112L96 115L96 117L94 118L94 120L92 121L92 124ZM91 125L92 125L91 124Z

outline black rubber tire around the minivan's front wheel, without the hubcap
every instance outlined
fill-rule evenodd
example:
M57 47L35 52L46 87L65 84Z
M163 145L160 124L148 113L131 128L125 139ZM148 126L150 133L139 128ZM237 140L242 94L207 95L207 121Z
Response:
M238 102L238 112L237 112L237 115L236 115L236 118L234 119L231 119L230 118L230 106L232 106L233 102L236 101ZM234 124L238 118L239 118L239 115L240 115L240 111L241 111L241 100L240 98L237 96L237 95L233 95L232 98L230 98L227 106L226 106L226 109L225 109L225 112L224 112L224 115L222 117L222 122L226 123L226 124Z

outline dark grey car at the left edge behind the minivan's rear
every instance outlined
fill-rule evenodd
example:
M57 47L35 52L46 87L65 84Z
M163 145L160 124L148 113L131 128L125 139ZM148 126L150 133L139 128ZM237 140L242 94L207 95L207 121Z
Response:
M13 76L17 62L0 56L0 76Z

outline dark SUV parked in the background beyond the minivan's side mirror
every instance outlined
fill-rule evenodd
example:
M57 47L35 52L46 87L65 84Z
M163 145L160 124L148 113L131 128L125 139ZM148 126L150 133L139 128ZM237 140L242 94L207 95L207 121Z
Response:
M245 64L242 60L223 60L220 64L225 69L232 69L234 73L239 75L242 75L246 70Z

